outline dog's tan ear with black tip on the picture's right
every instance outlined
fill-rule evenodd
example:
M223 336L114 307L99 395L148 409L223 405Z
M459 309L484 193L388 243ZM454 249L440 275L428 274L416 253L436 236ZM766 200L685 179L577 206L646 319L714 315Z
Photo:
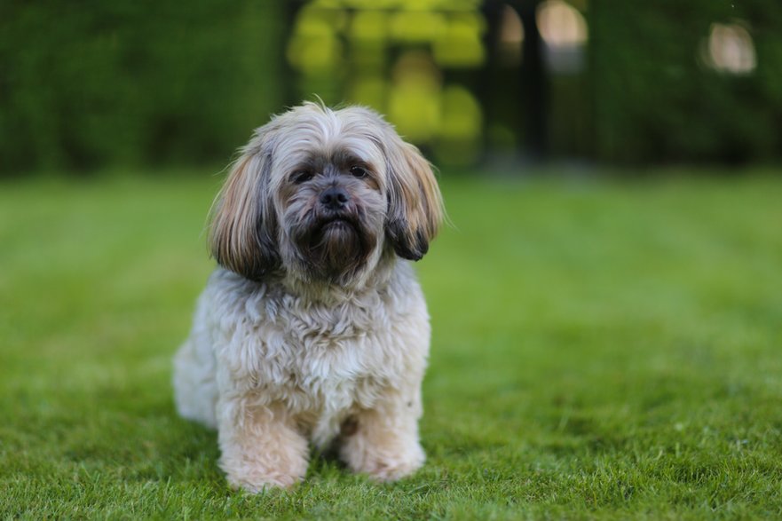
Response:
M386 237L399 257L419 260L443 219L443 201L431 165L394 130L384 139L388 162Z

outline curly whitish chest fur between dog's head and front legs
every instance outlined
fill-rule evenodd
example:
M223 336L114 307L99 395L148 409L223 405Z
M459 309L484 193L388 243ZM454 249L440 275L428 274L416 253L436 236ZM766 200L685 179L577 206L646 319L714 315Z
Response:
M377 407L423 371L423 296L406 266L394 277L383 288L318 304L217 272L224 283L212 286L208 300L217 386L259 406L281 405L322 445L350 414Z

